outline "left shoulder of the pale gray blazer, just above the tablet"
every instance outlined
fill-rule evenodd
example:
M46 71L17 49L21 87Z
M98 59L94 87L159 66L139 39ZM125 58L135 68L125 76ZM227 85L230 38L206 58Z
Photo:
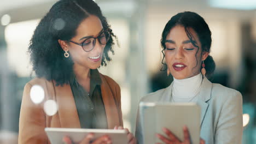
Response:
M162 88L159 89L158 91L155 91L153 93L149 93L145 95L142 99L141 102L155 102L160 99L160 97L163 95L163 93L166 91L167 88Z

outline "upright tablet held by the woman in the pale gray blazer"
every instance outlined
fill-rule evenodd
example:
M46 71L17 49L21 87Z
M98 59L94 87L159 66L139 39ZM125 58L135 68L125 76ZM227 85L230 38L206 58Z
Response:
M192 143L200 143L201 108L195 103L144 103L139 104L144 143L162 142L156 133L166 136L165 127L179 140L184 140L183 126L187 125Z

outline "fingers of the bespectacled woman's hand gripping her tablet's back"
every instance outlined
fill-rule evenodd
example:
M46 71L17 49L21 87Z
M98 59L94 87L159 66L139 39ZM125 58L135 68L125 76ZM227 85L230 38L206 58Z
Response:
M85 136L85 138L80 142L73 142L69 136L63 137L62 141L65 144L111 144L112 141L110 140L109 136L103 135L101 137L98 137L98 139L92 141L94 139L94 134L88 134Z

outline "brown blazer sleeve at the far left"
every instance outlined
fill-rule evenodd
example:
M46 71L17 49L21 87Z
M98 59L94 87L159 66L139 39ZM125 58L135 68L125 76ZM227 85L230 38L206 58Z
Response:
M34 104L30 98L32 85L27 83L21 102L19 120L19 144L48 143L48 138L44 132L45 113L42 104Z

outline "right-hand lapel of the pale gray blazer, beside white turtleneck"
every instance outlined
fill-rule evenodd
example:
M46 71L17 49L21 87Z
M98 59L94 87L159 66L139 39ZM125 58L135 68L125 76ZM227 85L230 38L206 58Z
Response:
M203 119L205 118L205 114L209 106L209 104L206 102L211 99L211 92L212 92L212 83L205 77L202 81L199 100L197 100L197 104L200 105L201 107L200 125L202 125Z

